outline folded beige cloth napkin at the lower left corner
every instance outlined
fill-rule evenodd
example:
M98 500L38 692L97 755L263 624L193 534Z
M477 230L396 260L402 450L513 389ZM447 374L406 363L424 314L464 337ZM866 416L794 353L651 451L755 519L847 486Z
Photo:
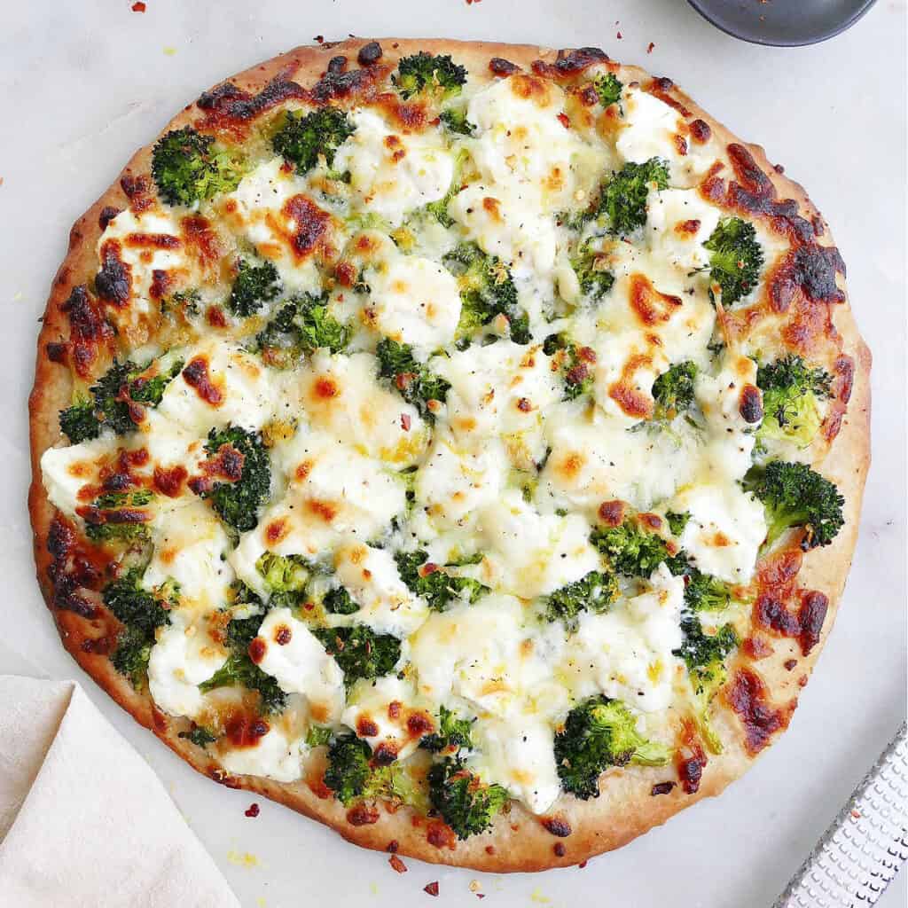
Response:
M142 757L72 681L0 676L0 903L237 908Z

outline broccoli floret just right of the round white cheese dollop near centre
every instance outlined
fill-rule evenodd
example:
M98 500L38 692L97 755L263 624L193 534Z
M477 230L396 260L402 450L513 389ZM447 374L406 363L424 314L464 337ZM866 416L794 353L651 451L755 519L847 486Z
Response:
M487 255L473 242L460 243L442 257L460 288L459 338L470 337L497 315L506 315L511 340L530 341L527 313L518 307L517 287L508 266L497 255Z

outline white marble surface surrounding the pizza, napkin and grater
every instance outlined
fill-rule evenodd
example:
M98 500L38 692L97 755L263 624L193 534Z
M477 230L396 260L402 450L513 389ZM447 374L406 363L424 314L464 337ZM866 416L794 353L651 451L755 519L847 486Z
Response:
M4 5L0 30L0 671L76 677L168 786L244 905L419 903L439 880L503 905L763 908L893 734L905 711L905 3L879 0L854 28L796 50L741 44L682 0L53 0ZM35 587L25 512L25 400L36 321L71 222L203 88L315 35L450 35L599 44L672 76L804 183L848 262L873 349L873 469L844 607L788 733L720 800L626 849L536 876L407 862L341 843L270 803L212 785L133 724L57 642ZM618 33L622 36L617 37ZM647 54L647 45L655 47ZM86 767L91 772L91 767ZM137 818L137 822L140 818ZM881 904L905 903L904 873ZM115 902L112 902L114 904Z

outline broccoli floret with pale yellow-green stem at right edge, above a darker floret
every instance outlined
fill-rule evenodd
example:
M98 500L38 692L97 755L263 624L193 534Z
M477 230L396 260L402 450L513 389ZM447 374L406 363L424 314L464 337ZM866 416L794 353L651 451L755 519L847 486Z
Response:
M757 438L790 441L806 448L823 421L818 401L831 396L832 376L792 354L760 366L756 383L763 391L763 423Z

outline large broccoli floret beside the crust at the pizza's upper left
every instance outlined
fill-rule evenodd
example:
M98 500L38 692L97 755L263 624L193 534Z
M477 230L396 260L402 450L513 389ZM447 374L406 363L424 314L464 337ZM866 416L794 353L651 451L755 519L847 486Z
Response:
M192 205L240 183L242 163L214 147L210 135L192 126L166 133L152 151L152 176L164 202Z

